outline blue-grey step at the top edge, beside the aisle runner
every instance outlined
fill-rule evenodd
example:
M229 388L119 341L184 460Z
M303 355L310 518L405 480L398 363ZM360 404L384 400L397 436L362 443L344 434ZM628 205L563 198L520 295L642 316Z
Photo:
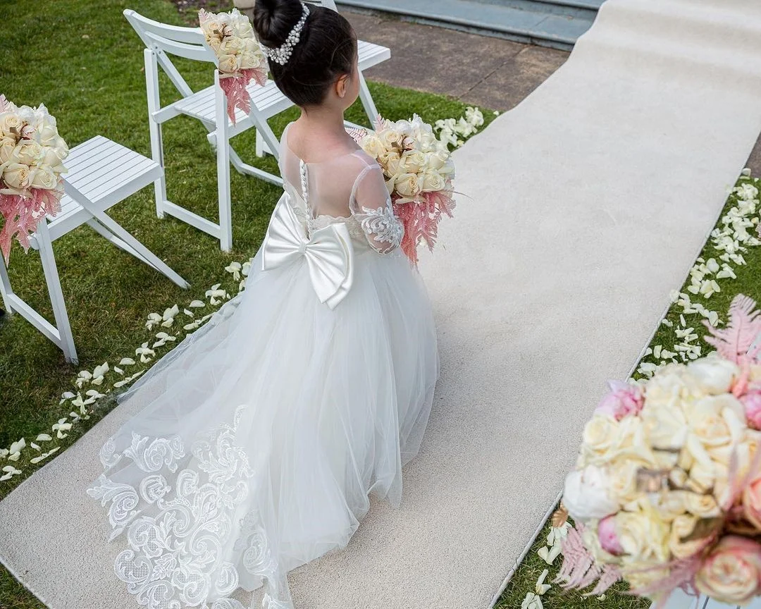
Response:
M603 0L338 0L340 5L402 15L521 42L571 49Z

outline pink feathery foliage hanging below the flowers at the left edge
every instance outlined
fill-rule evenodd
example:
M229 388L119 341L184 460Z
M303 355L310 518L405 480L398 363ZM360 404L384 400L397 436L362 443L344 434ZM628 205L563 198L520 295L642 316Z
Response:
M0 100L2 103L2 100ZM60 211L60 201L63 187L59 184L56 190L32 188L29 196L0 194L0 214L5 222L0 231L0 251L8 265L11 257L11 241L15 237L29 250L29 237L37 229L37 223L45 215L56 215Z

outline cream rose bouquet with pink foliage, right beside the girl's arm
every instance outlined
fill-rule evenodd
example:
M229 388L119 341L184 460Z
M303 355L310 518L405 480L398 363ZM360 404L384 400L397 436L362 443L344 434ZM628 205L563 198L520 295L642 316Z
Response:
M402 250L417 264L418 245L425 241L432 251L441 215L452 217L454 160L447 144L417 114L396 123L378 116L375 131L351 133L383 169L393 211L404 225Z

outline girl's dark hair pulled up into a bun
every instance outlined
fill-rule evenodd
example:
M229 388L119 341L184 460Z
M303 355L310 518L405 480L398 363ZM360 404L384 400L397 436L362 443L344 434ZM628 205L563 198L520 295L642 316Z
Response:
M275 84L301 107L321 104L336 78L352 73L357 59L357 38L349 21L330 8L307 7L309 16L288 62L269 62ZM256 0L256 37L271 49L282 46L303 11L300 0Z

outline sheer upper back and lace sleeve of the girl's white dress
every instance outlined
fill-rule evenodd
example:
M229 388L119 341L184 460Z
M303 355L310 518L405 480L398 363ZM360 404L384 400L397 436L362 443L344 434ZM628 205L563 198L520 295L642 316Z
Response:
M280 172L291 205L307 234L336 222L349 228L355 245L379 253L399 247L404 228L393 215L383 170L357 149L317 163L303 161L288 145L290 125L280 140Z

